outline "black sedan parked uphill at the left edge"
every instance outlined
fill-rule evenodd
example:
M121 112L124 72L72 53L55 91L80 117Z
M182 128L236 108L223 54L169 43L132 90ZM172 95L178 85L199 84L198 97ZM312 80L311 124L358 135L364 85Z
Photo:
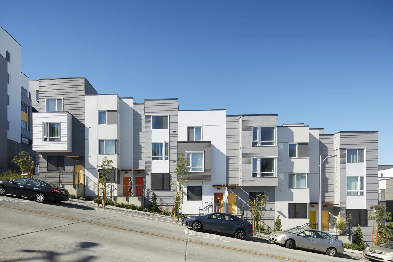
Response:
M17 178L0 181L0 196L11 194L33 198L39 203L52 201L60 203L69 199L69 192L55 183L33 178Z

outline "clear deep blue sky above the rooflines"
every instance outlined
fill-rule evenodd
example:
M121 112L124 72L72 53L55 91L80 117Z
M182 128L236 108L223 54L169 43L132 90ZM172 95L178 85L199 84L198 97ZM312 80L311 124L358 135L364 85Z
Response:
M0 25L30 80L378 130L393 164L393 1L6 1Z

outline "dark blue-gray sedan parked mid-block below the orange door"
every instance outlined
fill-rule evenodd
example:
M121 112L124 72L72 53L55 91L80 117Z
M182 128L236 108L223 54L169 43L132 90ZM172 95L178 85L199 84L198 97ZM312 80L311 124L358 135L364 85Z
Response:
M214 231L217 233L233 235L237 239L253 235L252 224L225 213L210 213L202 216L186 216L183 225L193 227L194 231Z

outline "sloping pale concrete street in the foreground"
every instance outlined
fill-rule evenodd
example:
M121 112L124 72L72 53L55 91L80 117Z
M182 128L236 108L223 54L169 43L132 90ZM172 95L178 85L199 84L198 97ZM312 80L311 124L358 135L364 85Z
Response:
M237 240L114 211L13 196L0 196L0 221L0 261L360 260L291 250L264 238Z

